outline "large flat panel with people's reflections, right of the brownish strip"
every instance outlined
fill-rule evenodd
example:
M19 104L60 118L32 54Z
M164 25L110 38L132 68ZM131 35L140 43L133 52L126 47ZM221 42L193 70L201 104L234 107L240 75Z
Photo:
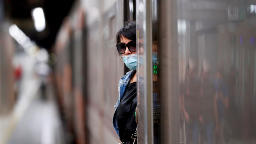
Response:
M255 143L255 1L177 1L180 143Z

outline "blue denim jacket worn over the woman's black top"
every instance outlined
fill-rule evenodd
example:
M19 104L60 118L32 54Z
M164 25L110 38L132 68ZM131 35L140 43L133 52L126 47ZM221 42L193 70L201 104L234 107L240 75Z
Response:
M136 70L132 70L126 73L126 75L124 75L123 77L121 77L121 79L119 80L119 84L118 84L118 92L119 92L119 98L116 102L115 105L115 112L113 115L113 126L119 136L119 130L116 124L116 108L119 105L119 102L122 100L123 96L124 96L124 91L128 85L128 83L130 82L130 79L132 78L132 76L136 73Z

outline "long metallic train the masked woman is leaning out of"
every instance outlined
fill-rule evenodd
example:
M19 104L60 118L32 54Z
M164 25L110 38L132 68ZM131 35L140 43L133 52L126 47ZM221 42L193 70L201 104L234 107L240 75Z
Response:
M138 143L255 143L254 1L75 1L52 65L66 139L118 143L117 31L137 22Z

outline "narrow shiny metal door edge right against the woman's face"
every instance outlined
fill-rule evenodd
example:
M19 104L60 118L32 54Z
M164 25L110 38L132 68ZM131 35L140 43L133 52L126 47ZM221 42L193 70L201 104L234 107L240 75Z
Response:
M137 1L138 143L153 143L153 65L151 1ZM147 25L145 25L147 23Z

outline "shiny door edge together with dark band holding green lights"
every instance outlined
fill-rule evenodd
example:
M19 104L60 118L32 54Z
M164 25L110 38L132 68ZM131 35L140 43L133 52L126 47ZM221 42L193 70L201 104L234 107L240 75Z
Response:
M158 1L137 1L138 143L160 143Z

